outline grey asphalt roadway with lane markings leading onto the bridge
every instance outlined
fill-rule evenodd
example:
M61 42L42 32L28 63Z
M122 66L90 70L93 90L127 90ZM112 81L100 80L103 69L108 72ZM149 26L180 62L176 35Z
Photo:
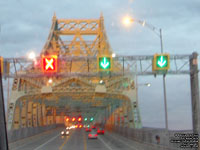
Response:
M144 150L142 144L106 133L98 139L88 139L84 129L71 129L69 136L61 136L58 128L10 143L10 150ZM145 149L146 150L146 149Z

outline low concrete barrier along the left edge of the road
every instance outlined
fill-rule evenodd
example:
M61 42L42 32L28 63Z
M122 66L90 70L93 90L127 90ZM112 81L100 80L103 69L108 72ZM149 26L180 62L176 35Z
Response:
M42 133L44 131L48 131L54 129L56 127L60 127L63 125L48 125L41 127L29 127L29 128L21 128L18 130L11 130L7 132L9 143Z

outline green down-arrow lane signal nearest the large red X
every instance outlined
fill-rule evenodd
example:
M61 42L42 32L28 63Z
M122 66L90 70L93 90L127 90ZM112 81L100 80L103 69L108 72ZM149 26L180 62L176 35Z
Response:
M97 57L98 71L112 70L112 56L98 56Z

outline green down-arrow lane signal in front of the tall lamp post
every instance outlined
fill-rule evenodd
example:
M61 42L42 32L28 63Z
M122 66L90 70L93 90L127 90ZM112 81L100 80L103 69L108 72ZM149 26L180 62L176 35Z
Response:
M170 68L169 54L155 54L153 57L153 71L167 71Z

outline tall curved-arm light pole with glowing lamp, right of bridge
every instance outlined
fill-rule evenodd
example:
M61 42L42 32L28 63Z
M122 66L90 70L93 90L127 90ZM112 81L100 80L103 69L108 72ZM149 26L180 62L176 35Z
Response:
M163 40L162 40L162 29L156 28L155 26L146 23L146 21L141 21L138 19L133 19L130 17L125 17L123 20L123 23L125 25L129 25L132 22L137 22L141 24L143 27L147 27L150 30L152 30L159 38L160 38L160 48L161 48L161 53L163 53ZM165 105L165 128L168 130L168 115L167 115L167 96L166 96L166 84L165 84L165 74L163 75L163 92L164 92L164 105Z

